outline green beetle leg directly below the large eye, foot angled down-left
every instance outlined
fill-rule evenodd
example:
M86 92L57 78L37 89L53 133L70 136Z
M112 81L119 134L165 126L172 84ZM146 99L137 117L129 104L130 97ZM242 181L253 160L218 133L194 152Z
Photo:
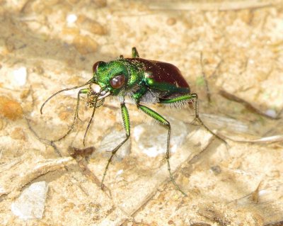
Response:
M121 103L121 111L122 111L122 120L123 120L123 127L125 129L125 132L126 132L126 138L125 140L123 140L122 142L120 142L120 145L118 145L117 147L115 147L115 149L112 149L111 151L111 156L110 158L108 159L108 163L105 167L105 170L104 170L104 173L103 173L103 178L102 178L102 181L101 181L101 189L103 188L103 181L105 179L105 175L106 175L106 172L108 171L108 166L110 164L110 162L112 161L112 158L114 157L114 155L116 154L117 150L125 144L125 142L129 139L129 136L131 134L131 130L130 130L130 125L129 125L129 113L128 113L128 110L127 110L127 107L125 106L125 103Z

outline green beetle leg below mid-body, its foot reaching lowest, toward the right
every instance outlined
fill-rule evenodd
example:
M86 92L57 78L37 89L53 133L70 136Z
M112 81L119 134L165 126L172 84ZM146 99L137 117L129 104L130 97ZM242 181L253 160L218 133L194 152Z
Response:
M175 182L175 180L173 179L173 175L171 172L171 167L170 167L170 162L169 162L169 158L170 158L170 133L171 133L171 125L168 122L168 120L166 120L165 118L163 118L162 115L159 115L158 113L156 113L155 111L151 110L151 108L148 108L146 106L137 104L137 108L139 108L141 111L143 111L144 113L146 113L146 115L149 115L151 118L154 118L155 120L157 120L159 123L161 123L162 125L165 125L168 128L168 137L167 137L167 150L166 150L166 162L167 162L167 166L168 166L168 171L170 174L170 179L172 181L172 183L174 184L174 186L178 189L178 191L180 191L181 193L183 193L184 196L187 196L186 193L184 193L179 186L177 185L177 183Z

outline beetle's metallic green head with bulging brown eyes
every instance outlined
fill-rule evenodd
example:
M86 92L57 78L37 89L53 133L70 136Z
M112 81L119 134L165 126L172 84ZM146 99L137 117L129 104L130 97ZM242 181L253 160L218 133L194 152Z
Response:
M117 96L125 91L128 79L127 67L119 60L93 64L93 84L99 86L100 98Z

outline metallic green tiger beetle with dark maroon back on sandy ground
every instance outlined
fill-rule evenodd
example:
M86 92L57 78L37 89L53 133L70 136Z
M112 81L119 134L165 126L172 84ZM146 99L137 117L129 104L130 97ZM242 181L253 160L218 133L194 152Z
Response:
M71 130L73 130L74 125L79 118L78 112L81 94L86 94L87 105L90 108L93 108L91 119L89 120L86 132L84 133L83 146L85 146L86 134L91 125L91 121L93 120L96 108L102 106L105 98L108 96L119 97L122 112L122 123L125 129L126 138L120 142L117 147L112 149L112 154L108 159L108 163L105 166L103 173L103 179L100 185L101 188L103 188L103 181L112 158L116 154L117 150L129 139L131 134L129 113L125 105L126 96L132 98L139 110L143 111L146 115L149 115L151 118L167 128L168 137L165 159L168 166L168 172L175 188L183 193L184 196L186 196L186 194L179 188L173 179L169 162L171 125L162 115L156 113L156 111L151 108L144 106L144 103L161 103L172 107L182 106L187 103L195 103L195 120L207 131L212 133L212 135L226 143L225 140L216 135L212 132L212 130L207 128L204 123L202 123L198 113L197 94L190 93L190 86L187 84L187 81L185 81L180 70L173 64L139 58L139 53L137 52L136 47L132 48L132 58L124 58L120 55L117 60L110 62L98 61L93 64L93 77L87 81L86 84L57 91L57 93L50 96L50 98L47 98L47 100L42 104L40 113L42 114L42 108L45 106L45 103L47 103L47 101L49 101L53 96L63 91L78 89L83 86L87 86L87 88L80 89L78 92L74 122L72 123L71 128L64 136L57 140L53 140L53 142L64 139L64 137L69 135Z

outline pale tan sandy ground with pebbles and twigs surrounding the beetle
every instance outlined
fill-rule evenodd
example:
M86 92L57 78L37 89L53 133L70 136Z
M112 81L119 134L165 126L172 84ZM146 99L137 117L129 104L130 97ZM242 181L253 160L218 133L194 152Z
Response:
M283 225L283 1L2 0L0 15L0 225ZM186 197L163 161L166 130L130 103L132 137L104 190L107 151L124 137L119 102L96 111L86 147L85 100L50 142L70 127L77 90L40 115L134 46L178 66L228 142L190 124L190 109L151 106L171 121Z

